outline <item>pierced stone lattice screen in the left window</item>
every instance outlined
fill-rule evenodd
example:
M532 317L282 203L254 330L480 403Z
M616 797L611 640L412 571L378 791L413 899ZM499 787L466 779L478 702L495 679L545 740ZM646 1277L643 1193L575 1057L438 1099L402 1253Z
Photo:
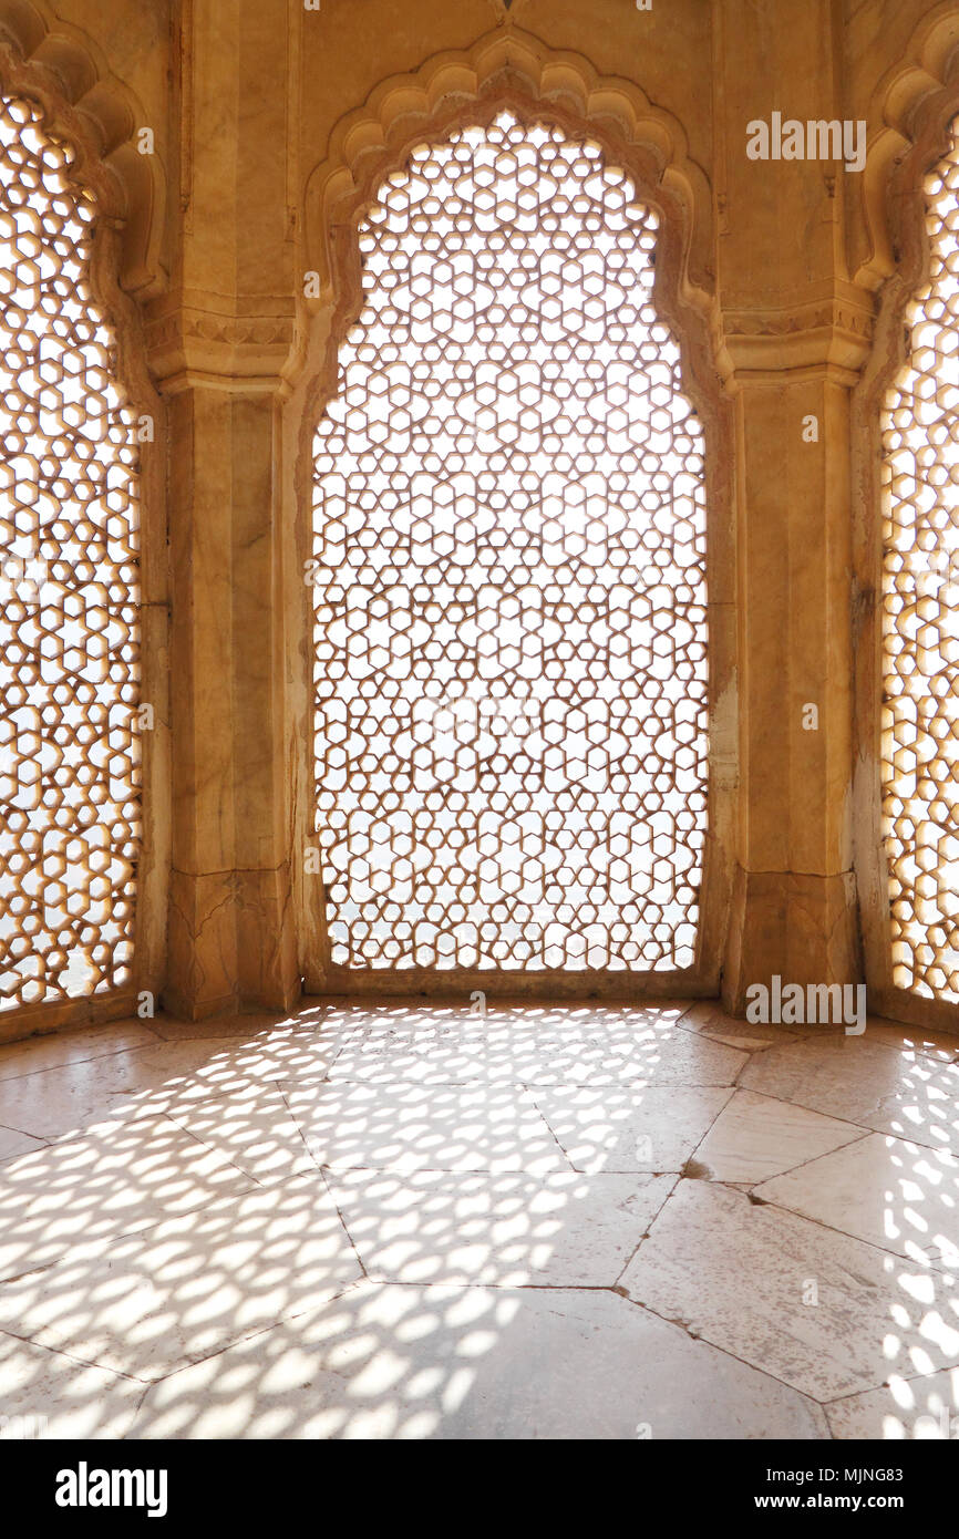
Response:
M88 194L0 98L0 1008L129 982L137 449L88 286Z

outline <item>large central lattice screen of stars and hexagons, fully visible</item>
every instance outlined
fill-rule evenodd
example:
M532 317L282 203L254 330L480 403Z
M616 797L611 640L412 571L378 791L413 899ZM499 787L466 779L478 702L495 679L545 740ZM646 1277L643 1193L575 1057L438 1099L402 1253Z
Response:
M360 228L309 565L334 963L694 962L703 439L656 229L599 146L508 112Z

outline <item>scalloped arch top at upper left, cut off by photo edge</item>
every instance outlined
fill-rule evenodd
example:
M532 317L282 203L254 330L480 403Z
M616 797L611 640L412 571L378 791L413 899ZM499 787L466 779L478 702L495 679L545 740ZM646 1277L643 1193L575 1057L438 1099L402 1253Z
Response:
M94 40L45 0L0 0L0 78L38 100L77 151L77 171L120 231L120 283L149 297L162 286L166 183L159 155L137 152L145 112Z

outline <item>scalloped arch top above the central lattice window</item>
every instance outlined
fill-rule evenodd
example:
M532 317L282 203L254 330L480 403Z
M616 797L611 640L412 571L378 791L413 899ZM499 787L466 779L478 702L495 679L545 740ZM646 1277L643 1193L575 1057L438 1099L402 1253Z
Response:
M554 52L539 38L497 29L465 52L433 55L416 72L383 80L363 106L334 126L326 159L305 189L306 266L319 272L320 295L336 289L334 231L349 226L403 151L442 137L479 108L525 105L559 123L588 126L625 169L642 172L643 195L670 209L676 243L676 291L707 311L714 295L713 194L691 159L680 122L656 106L639 85L602 77L582 55Z

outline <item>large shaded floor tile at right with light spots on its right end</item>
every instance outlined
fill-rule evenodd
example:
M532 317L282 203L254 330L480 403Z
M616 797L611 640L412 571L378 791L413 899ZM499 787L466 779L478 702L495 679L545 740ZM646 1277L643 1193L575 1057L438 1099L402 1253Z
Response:
M817 1400L959 1364L948 1276L710 1182L679 1183L622 1282Z

